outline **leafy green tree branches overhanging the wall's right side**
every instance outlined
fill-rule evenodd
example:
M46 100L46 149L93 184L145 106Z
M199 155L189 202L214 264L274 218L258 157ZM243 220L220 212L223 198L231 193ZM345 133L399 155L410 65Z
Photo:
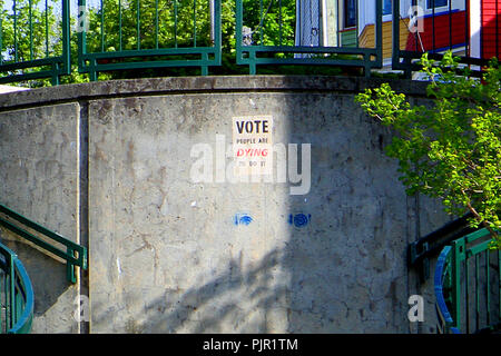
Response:
M471 211L501 248L501 91L500 71L492 61L482 81L459 68L448 52L436 62L423 55L432 106L411 106L389 83L366 89L355 100L372 117L396 132L385 150L399 159L406 192L440 198L446 212Z

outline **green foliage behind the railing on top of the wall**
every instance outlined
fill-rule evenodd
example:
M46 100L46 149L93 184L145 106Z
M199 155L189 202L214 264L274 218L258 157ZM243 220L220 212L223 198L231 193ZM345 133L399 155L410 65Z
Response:
M6 1L6 0L2 0ZM90 3L90 1L88 0ZM252 41L266 46L293 46L295 31L295 0L244 0L244 26L252 32ZM17 0L17 51L14 50L14 16L2 10L2 55L4 61L39 59L61 53L60 2L49 0L48 9L41 0ZM95 3L99 3L95 2ZM173 47L210 46L209 1L193 0L102 0L87 7L87 52L112 52L118 50L155 49ZM3 4L3 3L2 3ZM75 6L72 3L72 6ZM2 7L3 8L3 7ZM139 10L139 11L138 11ZM29 16L31 11L31 31ZM156 30L157 29L157 30ZM62 83L88 81L87 75L77 70L77 31L75 11L71 18L72 72L62 77ZM215 75L246 73L247 68L236 65L235 53L235 0L222 0L220 67ZM30 52L31 50L31 52ZM31 57L30 57L31 53ZM277 56L292 56L277 55ZM170 59L175 59L170 57ZM124 59L120 59L124 60ZM126 59L135 60L135 59ZM109 60L108 60L109 61ZM276 73L277 68L263 72ZM26 69L24 72L38 69ZM194 68L136 69L99 73L99 79L134 77L185 76ZM311 73L310 67L283 67L283 73ZM315 68L315 72L338 75L338 68ZM50 85L50 80L30 81L31 87Z

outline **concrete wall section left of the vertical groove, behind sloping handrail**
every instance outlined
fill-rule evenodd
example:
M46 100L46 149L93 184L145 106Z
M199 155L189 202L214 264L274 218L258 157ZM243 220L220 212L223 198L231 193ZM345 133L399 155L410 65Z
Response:
M79 105L9 110L0 119L0 199L9 208L78 241ZM33 329L75 333L79 285L66 281L61 261L1 229L21 258L36 295Z

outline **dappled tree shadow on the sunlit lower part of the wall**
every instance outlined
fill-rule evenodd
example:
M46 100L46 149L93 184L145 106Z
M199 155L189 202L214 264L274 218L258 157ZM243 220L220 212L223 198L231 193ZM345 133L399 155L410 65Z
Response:
M240 260L232 259L226 273L209 283L187 290L166 290L165 295L148 300L144 305L144 315L124 320L125 329L120 332L228 333L229 327L239 333L272 333L274 326L262 316L286 295L285 288L277 288L272 283L273 270L279 263L277 250L245 270ZM243 309L243 299L250 313ZM96 309L102 307L107 312L94 315L96 324L116 319L120 313L112 304L96 305ZM254 322L253 313L257 314Z

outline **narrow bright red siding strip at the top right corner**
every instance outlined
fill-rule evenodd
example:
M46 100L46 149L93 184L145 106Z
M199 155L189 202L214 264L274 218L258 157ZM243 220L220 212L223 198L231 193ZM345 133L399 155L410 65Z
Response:
M482 58L501 53L501 0L482 0Z

